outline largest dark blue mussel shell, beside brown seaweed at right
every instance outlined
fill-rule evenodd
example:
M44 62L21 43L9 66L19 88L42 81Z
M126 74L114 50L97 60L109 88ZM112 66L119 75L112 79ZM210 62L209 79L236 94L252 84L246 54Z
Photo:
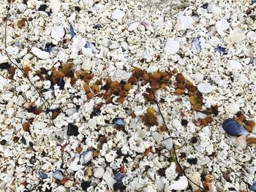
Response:
M233 120L232 118L226 119L222 123L222 127L227 132L227 134L232 136L249 135L249 132L244 127L236 123L236 120Z

